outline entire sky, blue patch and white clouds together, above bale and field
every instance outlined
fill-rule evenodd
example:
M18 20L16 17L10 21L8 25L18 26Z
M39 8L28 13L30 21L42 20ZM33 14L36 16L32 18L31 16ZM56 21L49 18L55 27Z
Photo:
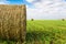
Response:
M26 4L26 19L66 19L66 0L0 0L0 4Z

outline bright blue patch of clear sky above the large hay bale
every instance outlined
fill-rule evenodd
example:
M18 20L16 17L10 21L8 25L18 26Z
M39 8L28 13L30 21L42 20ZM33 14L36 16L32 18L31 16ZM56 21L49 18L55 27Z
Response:
M8 2L8 4L31 4L26 0L1 0L1 2Z

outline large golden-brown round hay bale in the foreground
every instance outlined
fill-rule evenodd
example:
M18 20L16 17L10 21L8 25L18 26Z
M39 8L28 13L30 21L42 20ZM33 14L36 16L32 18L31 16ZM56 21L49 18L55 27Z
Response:
M0 4L0 37L6 40L25 40L25 6Z

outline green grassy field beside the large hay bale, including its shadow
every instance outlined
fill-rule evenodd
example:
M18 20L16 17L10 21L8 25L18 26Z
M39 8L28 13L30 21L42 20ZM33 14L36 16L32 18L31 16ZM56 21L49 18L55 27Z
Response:
M34 20L26 23L26 44L66 44L66 21Z

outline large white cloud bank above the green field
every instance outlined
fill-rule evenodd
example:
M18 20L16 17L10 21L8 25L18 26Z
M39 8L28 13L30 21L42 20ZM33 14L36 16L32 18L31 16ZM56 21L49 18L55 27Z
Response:
M34 9L28 8L28 19L66 19L66 2L62 0L41 0Z

